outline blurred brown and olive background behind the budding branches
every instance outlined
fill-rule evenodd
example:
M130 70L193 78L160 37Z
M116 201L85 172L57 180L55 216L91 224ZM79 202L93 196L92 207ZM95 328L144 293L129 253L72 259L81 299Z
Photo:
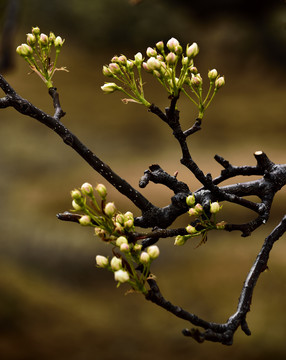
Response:
M180 151L168 127L145 108L123 105L120 94L104 95L102 66L115 54L133 57L159 40L197 42L203 78L208 69L226 85L206 112L203 130L190 142L194 160L217 176L215 154L234 165L255 165L263 150L285 163L286 7L260 0L10 0L0 1L0 69L24 98L53 114L44 84L15 54L32 26L65 38L54 83L63 122L119 175L138 188L153 163L188 183L199 184L179 163ZM168 99L146 74L146 94L159 107ZM182 126L196 111L180 99ZM139 294L116 289L111 273L95 266L109 247L91 229L60 222L71 208L70 190L104 182L60 138L13 109L0 113L0 357L3 360L89 359L284 359L286 356L285 236L270 257L254 292L248 324L234 345L197 344L184 338L190 327ZM235 181L247 179L236 179ZM106 183L106 182L104 182ZM133 205L108 186L122 211ZM150 184L144 195L158 206L171 193ZM285 190L277 194L269 222L248 238L211 233L206 245L173 246L161 240L153 272L163 295L210 321L235 312L243 281L264 238L285 214ZM238 210L238 211L237 211ZM248 221L249 212L225 205L221 220ZM182 217L175 225L184 226ZM175 226L174 225L174 226Z

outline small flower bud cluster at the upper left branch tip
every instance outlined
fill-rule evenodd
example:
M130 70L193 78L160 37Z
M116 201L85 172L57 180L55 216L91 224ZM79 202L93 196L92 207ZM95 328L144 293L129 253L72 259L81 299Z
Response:
M33 27L32 32L27 34L27 42L19 45L16 52L29 64L30 68L45 82L48 88L53 87L52 77L56 70L59 53L64 40L53 32L49 35L41 33L38 27ZM52 50L55 50L55 59L51 60Z

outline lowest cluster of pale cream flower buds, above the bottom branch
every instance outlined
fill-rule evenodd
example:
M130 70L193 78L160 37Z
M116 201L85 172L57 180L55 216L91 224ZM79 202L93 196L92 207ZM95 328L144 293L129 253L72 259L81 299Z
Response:
M97 255L95 258L97 266L112 271L117 286L127 282L133 291L146 294L146 280L151 277L151 262L160 254L158 246L152 245L142 250L142 245L128 243L124 236L118 237L114 245L120 249L120 252L113 251L115 255L111 260Z

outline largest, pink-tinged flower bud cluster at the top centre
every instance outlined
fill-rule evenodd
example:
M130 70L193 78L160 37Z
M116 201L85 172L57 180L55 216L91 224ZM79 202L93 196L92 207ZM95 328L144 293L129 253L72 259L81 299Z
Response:
M225 84L225 80L216 69L210 70L208 72L209 89L203 97L203 79L194 66L194 58L198 53L197 43L188 44L184 53L179 41L171 38L166 46L163 41L159 41L155 47L148 47L146 60L140 52L133 60L128 60L125 55L114 56L111 63L103 67L103 74L117 80L122 86L109 82L101 88L106 94L116 90L124 92L129 97L129 99L124 99L125 103L131 101L149 107L150 103L145 99L143 92L142 67L155 76L169 95L178 97L180 92L183 92L199 109L199 118L202 118L216 92ZM135 77L135 69L137 69L138 79Z

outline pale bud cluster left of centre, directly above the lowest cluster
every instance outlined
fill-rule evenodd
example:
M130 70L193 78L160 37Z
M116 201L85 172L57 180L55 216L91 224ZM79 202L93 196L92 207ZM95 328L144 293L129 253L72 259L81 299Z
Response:
M95 195L99 196L100 204ZM111 242L134 231L133 214L130 211L122 214L114 202L107 202L107 190L103 184L94 188L86 182L80 189L74 189L71 197L73 211L81 213L79 223L94 227L95 234L102 240Z

